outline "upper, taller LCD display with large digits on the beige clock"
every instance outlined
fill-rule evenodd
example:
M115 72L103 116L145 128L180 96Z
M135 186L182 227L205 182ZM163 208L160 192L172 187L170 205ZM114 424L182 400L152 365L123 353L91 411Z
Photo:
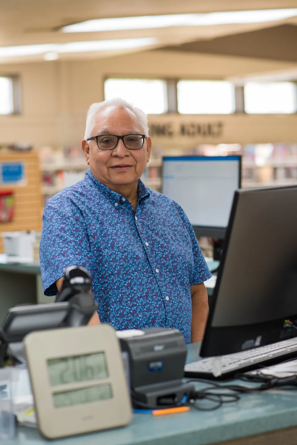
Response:
M51 386L108 377L104 352L48 360Z

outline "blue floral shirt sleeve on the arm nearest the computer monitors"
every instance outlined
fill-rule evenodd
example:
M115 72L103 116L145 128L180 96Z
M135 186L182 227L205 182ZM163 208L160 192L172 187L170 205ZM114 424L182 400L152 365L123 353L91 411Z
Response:
M192 224L189 222L189 218L187 217L181 206L179 206L177 203L175 203L175 205L177 206L177 211L180 214L181 220L184 223L185 228L188 231L192 241L194 268L190 286L193 286L194 284L200 284L208 280L212 277L212 274L210 273L209 267L206 264L204 256L202 255Z

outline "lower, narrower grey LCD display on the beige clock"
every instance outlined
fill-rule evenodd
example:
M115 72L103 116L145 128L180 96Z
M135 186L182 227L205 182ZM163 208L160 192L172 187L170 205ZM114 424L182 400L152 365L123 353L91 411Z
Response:
M110 384L106 384L66 392L55 392L52 396L55 408L60 408L111 399L112 390Z

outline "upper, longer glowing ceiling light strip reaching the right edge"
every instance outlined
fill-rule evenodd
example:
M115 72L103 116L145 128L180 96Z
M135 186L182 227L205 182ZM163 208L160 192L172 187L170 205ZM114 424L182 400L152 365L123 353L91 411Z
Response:
M167 28L169 26L207 26L235 23L261 23L297 16L297 8L259 11L209 12L166 16L116 17L87 20L61 28L62 32L124 31L127 29Z

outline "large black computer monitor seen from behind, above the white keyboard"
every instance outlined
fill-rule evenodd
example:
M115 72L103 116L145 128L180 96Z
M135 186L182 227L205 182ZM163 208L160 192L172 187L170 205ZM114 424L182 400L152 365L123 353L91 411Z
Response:
M200 354L295 337L288 319L297 323L297 186L237 190Z

